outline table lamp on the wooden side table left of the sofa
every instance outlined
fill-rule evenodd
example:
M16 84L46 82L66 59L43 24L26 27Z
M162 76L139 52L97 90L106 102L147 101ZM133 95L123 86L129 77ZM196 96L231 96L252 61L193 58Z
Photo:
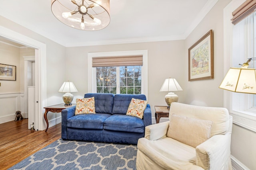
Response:
M77 92L75 85L73 84L73 82L64 82L62 84L62 86L60 87L60 90L58 92L62 92L65 93L62 96L62 99L66 105L72 105L72 101L74 99L73 94L71 94L71 92Z

